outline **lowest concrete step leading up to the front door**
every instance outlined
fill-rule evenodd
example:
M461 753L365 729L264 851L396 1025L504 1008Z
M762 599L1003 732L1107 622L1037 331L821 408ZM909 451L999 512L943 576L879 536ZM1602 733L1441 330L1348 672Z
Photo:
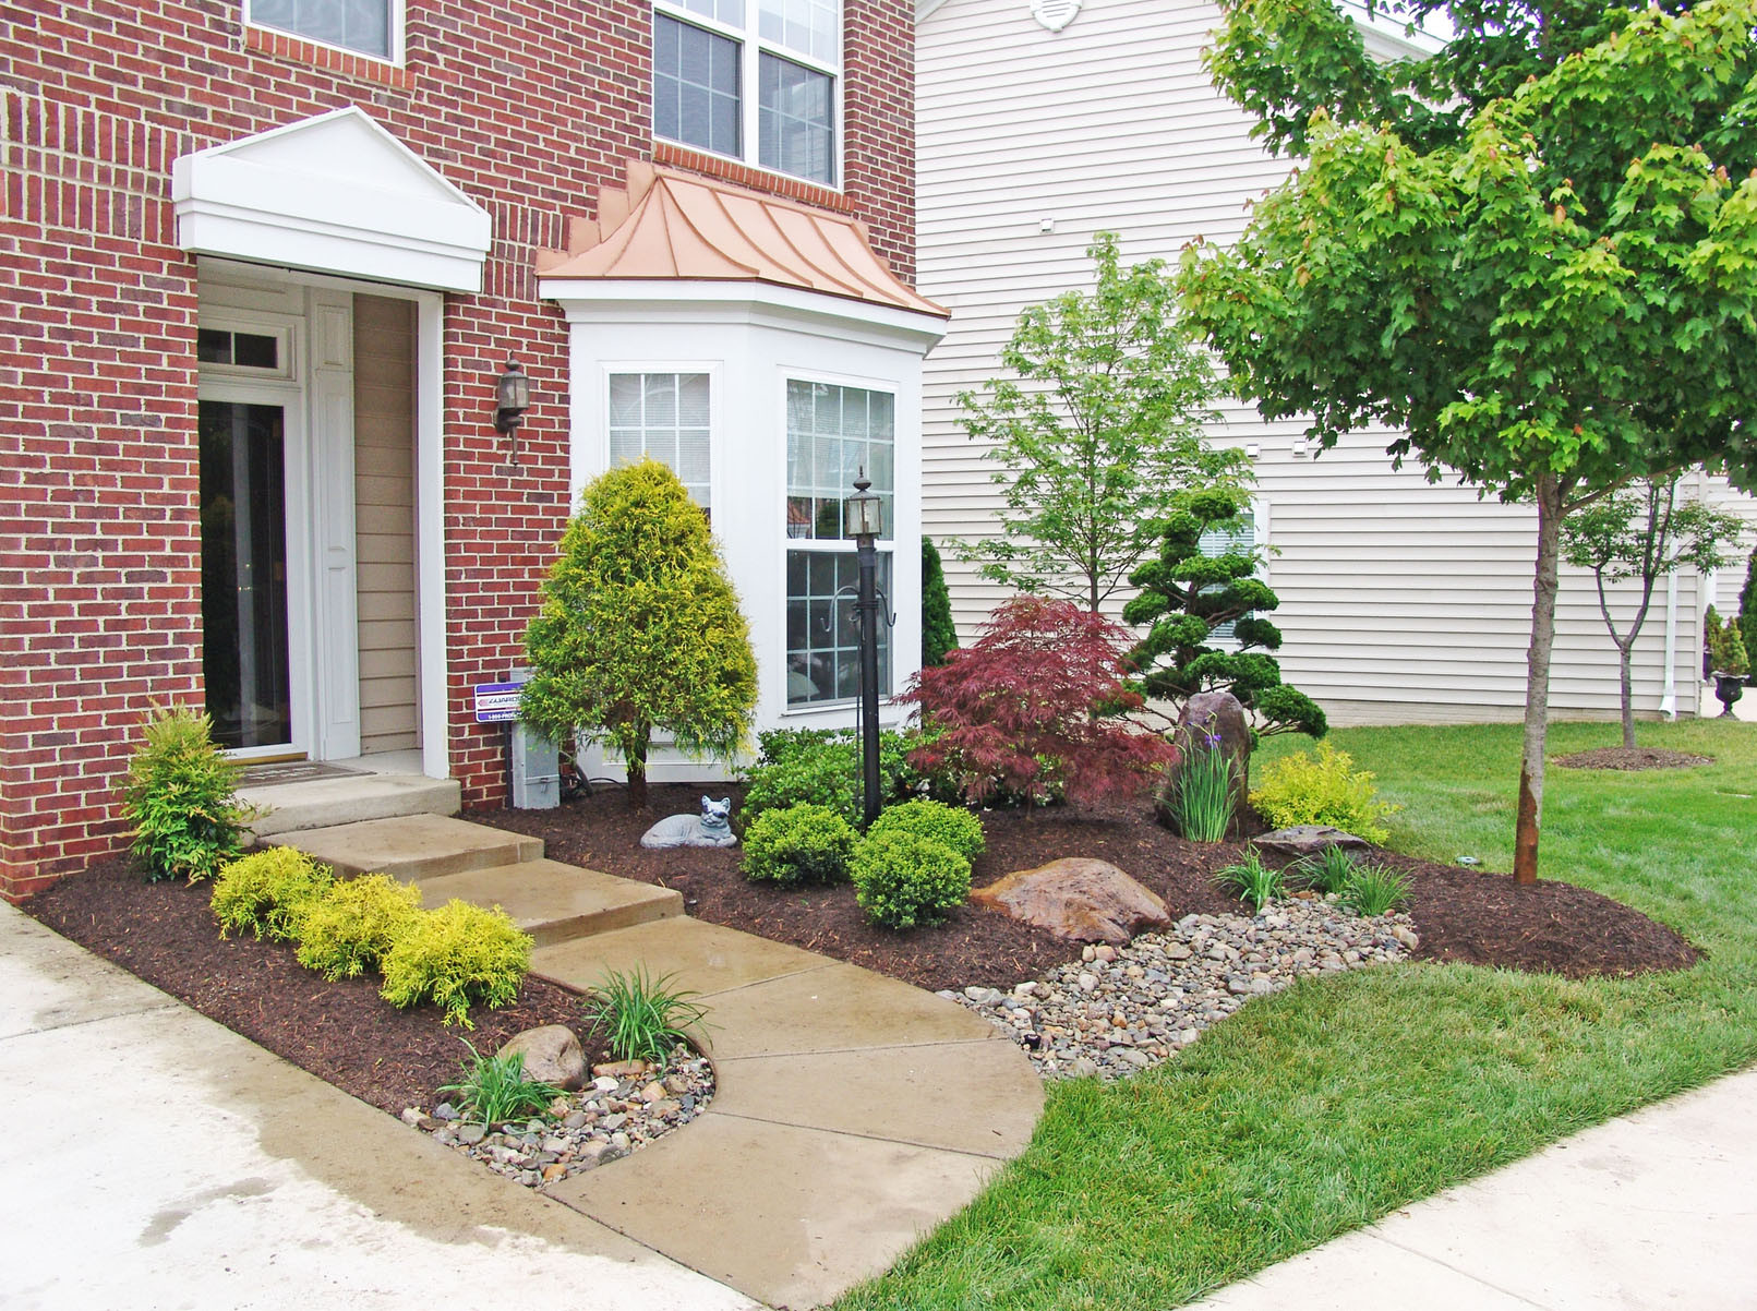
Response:
M683 914L683 895L671 887L548 859L423 877L418 887L427 909L453 896L497 905L539 947Z

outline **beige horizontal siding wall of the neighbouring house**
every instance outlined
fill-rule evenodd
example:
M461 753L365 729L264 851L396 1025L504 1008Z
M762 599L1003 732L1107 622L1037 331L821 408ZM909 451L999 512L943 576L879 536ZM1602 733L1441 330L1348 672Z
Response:
M1216 23L1207 4L1163 0L1088 0L1059 33L1024 0L945 0L919 23L921 290L952 309L924 399L924 525L942 548L994 532L994 466L958 427L956 395L994 374L1017 313L1091 285L1095 232L1119 232L1126 262L1175 260L1197 235L1235 241L1249 199L1286 176L1202 70ZM1518 715L1530 511L1479 501L1455 478L1430 485L1414 466L1393 471L1383 432L1297 457L1298 424L1232 404L1212 436L1260 446L1288 682L1337 722ZM947 580L968 638L1005 592L954 550ZM1673 691L1678 712L1694 713L1703 599L1688 576L1676 592ZM1616 594L1622 613L1627 594ZM1643 713L1660 712L1664 652L1662 585L1634 661ZM1590 576L1562 583L1550 703L1569 715L1616 710L1616 652ZM1708 710L1718 710L1711 698Z

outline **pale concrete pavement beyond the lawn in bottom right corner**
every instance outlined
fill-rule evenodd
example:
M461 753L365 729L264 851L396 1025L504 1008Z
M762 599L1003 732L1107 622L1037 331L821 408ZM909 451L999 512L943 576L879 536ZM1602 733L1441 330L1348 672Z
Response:
M1198 1311L1757 1307L1757 1068L1608 1121Z

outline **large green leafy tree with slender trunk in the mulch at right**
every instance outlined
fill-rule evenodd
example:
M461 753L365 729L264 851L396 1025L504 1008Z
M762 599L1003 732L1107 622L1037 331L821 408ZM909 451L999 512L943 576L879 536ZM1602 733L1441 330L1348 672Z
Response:
M1237 250L1184 255L1233 387L1325 446L1385 424L1430 478L1537 506L1522 880L1564 517L1697 462L1757 480L1753 5L1430 4L1458 35L1379 67L1328 5L1240 0L1212 60L1311 156Z

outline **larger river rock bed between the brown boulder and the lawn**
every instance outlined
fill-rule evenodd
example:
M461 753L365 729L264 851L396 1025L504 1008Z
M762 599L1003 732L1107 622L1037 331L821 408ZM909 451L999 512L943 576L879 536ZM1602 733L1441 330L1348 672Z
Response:
M1260 916L1184 916L1123 947L1082 947L1042 979L942 991L1024 1047L1044 1079L1119 1079L1158 1065L1253 996L1302 975L1399 961L1420 945L1404 914L1365 919L1335 898Z

